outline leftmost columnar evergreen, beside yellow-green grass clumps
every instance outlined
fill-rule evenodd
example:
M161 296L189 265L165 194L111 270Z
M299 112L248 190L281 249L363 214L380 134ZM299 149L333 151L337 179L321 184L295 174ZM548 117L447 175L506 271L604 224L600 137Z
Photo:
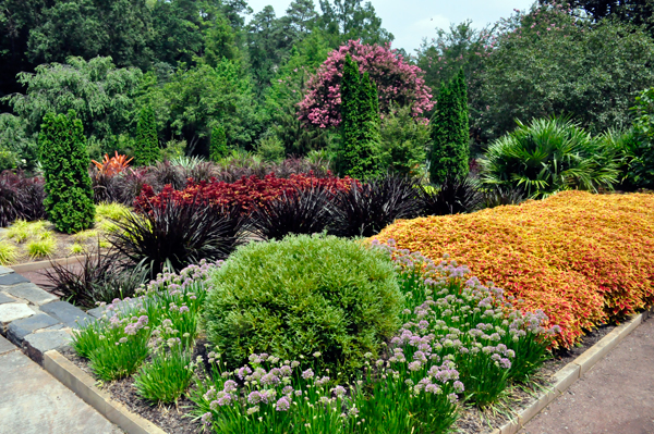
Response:
M83 129L73 110L68 115L48 113L38 139L46 212L57 230L68 234L90 227L95 218Z

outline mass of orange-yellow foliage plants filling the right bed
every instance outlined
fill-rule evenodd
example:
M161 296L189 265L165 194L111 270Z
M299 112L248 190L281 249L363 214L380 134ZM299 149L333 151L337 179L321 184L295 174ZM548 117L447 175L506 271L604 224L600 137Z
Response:
M545 311L565 346L654 301L654 195L565 191L398 221L374 238L435 260L448 253L513 295L520 309Z

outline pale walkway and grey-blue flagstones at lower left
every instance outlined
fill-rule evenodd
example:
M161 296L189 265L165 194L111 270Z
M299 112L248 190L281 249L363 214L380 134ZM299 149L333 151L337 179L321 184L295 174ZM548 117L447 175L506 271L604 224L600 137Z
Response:
M0 266L0 434L122 433L37 364L44 352L69 345L72 328L90 320Z

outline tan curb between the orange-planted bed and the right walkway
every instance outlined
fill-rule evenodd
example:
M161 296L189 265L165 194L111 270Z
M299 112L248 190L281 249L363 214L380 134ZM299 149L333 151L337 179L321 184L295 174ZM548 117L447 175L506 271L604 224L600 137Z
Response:
M631 320L618 325L598 343L586 349L581 356L566 364L553 375L554 384L529 407L521 410L513 419L492 434L516 434L530 420L538 414L556 397L568 389L577 380L586 373L595 363L604 359L625 337L635 330L647 317L654 317L654 307L631 318Z

